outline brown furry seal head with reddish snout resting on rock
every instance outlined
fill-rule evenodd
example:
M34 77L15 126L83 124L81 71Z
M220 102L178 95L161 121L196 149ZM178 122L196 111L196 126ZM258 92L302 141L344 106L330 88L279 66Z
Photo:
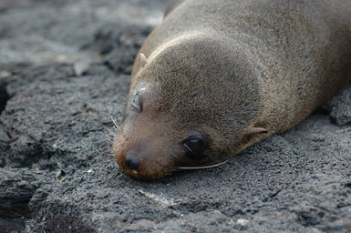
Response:
M130 176L222 164L266 132L256 122L257 74L243 51L223 45L229 43L187 35L148 58L139 54L113 147Z

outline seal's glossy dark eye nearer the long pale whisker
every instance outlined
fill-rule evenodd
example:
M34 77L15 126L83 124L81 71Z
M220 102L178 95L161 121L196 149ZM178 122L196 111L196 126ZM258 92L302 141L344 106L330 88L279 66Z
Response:
M200 159L206 150L206 143L198 131L191 131L190 137L183 142L187 157L191 159Z

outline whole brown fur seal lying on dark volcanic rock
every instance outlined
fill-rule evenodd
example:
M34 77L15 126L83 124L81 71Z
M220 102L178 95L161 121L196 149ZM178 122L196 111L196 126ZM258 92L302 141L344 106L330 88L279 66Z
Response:
M115 159L140 179L219 166L350 79L350 0L173 1L135 60Z

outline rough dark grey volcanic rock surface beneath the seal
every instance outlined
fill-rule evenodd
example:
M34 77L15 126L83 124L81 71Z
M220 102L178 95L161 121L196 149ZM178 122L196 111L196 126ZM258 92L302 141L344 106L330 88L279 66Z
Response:
M0 232L350 232L351 86L222 167L157 182L111 157L161 0L3 0Z

